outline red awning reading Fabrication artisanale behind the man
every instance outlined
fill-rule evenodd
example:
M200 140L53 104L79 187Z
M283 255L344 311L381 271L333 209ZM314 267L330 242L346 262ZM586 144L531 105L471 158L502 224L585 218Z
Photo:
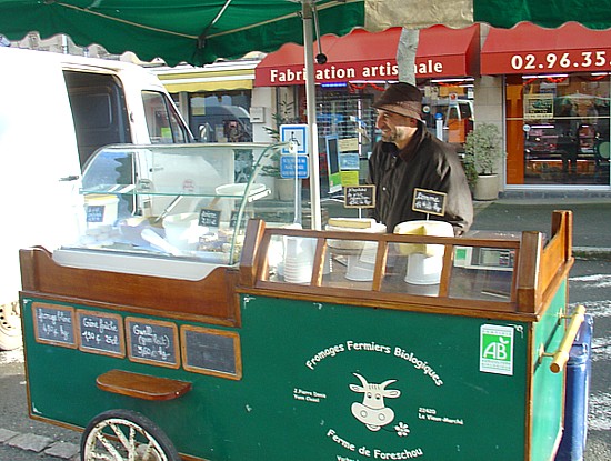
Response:
M415 77L467 77L478 74L479 24L465 29L433 26L420 31ZM348 36L323 36L328 61L315 64L317 83L397 80L397 48L401 28L383 32L355 29ZM314 56L318 54L318 42ZM256 87L304 84L303 47L288 43L269 53L254 70Z

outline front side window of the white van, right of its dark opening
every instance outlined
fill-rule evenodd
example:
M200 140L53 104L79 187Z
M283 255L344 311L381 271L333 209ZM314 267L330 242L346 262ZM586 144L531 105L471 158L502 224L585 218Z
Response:
M151 144L189 142L180 118L166 94L157 91L142 91L142 101Z

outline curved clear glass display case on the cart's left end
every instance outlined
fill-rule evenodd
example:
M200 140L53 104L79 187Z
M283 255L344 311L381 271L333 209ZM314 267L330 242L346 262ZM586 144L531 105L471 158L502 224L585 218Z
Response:
M272 227L294 222L293 202L281 203L282 212L270 216L261 200L271 191L258 173L281 148L102 148L83 169L80 237L54 251L53 259L62 265L193 280L217 265L233 265L250 218L263 218Z

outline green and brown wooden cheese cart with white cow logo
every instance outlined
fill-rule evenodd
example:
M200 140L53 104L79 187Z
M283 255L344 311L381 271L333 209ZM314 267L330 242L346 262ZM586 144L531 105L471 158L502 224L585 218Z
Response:
M119 218L122 196L131 216L139 194L169 208L177 191L130 189L121 168L103 190ZM569 211L549 235L313 231L269 224L248 184L181 189L198 226L232 230L218 261L118 239L21 250L31 418L83 431L88 461L554 458L583 318ZM438 255L439 280L410 278L414 254Z

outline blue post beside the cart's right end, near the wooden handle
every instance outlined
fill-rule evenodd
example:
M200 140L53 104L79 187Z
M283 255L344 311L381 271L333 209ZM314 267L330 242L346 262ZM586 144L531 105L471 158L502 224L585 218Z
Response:
M564 432L557 461L581 461L588 435L588 395L592 368L592 332L594 320L585 314L567 362L564 394Z

